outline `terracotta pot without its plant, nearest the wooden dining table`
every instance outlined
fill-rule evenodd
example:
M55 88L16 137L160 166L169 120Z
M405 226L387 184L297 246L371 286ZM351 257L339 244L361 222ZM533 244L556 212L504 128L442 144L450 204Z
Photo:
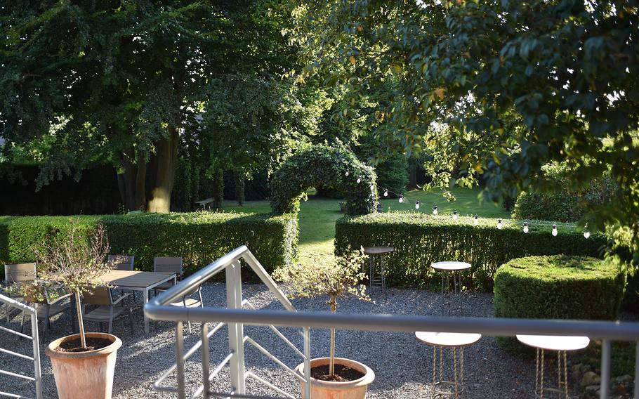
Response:
M115 359L122 341L117 336L101 332L88 332L86 337L108 339L112 344L95 351L56 351L63 342L79 338L79 334L74 334L56 339L46 348L60 399L111 398Z

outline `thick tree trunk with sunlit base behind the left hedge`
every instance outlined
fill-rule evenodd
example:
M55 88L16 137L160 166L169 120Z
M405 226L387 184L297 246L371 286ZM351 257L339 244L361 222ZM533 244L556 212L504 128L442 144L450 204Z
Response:
M173 127L168 137L155 145L155 154L151 157L147 183L149 202L147 211L167 213L171 209L171 191L178 164L178 127Z

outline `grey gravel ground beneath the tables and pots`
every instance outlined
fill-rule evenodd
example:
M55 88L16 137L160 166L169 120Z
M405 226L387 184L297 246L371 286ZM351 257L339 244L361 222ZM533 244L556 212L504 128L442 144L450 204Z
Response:
M339 312L343 313L403 313L410 315L433 315L440 310L440 295L427 291L409 289L389 289L385 298L374 295L376 303L367 303L348 299L341 302ZM249 299L256 308L280 309L282 306L263 285L244 285L244 298ZM225 285L206 284L204 301L210 306L225 306ZM294 306L300 310L327 311L324 299L297 299ZM492 294L477 293L466 302L466 314L477 317L492 317ZM6 325L4 310L0 311L0 325ZM136 309L136 334L131 336L128 318L114 323L114 334L123 341L118 352L114 377L114 398L171 398L173 395L157 393L151 388L154 379L171 366L175 358L175 333L168 322L152 322L150 334L143 333L142 308ZM8 327L17 329L20 318L15 317ZM88 323L87 331L95 331L97 325ZM28 328L28 327L27 327ZM268 327L246 327L246 334L258 344L268 349L289 367L295 367L301 358L286 346ZM282 332L298 348L302 348L301 329L283 328ZM59 315L51 322L47 343L54 338L70 332L70 313ZM312 356L323 357L329 353L329 330L312 330ZM192 333L185 330L186 345L191 346L199 336L199 327L193 326ZM29 342L13 334L0 334L0 347L20 353L30 354ZM211 339L211 365L216 365L228 351L226 329ZM42 374L45 398L55 398L55 381L51 374L51 362L44 355L41 345ZM393 332L351 332L338 331L336 354L343 358L352 358L371 367L376 379L369 387L368 398L430 398L432 382L433 350L426 344L416 341L414 334ZM464 351L466 374L466 398L529 398L534 388L534 360L516 358L502 351L494 338L484 336ZM196 386L200 379L201 353L193 355L187 362L187 384ZM31 363L27 360L9 358L0 353L0 369L8 369L22 374L31 374ZM552 366L551 366L552 367ZM246 368L265 377L276 386L298 395L299 384L287 372L279 368L250 344L246 344ZM553 374L554 375L554 374ZM166 380L174 384L175 379ZM252 394L277 395L269 388L249 381L248 391ZM228 392L228 368L223 369L213 388ZM16 379L0 374L0 391L33 395L32 384L22 384Z

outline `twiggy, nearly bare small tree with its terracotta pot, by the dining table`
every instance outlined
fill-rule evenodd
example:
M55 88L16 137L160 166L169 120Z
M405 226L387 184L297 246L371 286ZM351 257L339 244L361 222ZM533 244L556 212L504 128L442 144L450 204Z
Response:
M39 279L60 284L73 294L77 310L79 334L56 339L45 351L51 358L59 398L111 398L115 360L122 341L111 334L85 333L80 303L82 292L105 286L99 277L119 262L104 262L109 253L104 226L99 223L95 233L86 237L79 220L72 219L69 234L62 241L49 237L33 251L39 264Z

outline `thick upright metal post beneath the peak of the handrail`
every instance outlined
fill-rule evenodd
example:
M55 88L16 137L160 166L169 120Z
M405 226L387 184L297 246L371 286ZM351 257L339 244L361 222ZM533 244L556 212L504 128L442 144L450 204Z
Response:
M226 303L230 309L242 309L242 270L239 261L226 268ZM228 348L233 353L230 360L230 377L232 391L244 395L244 325L228 324Z

